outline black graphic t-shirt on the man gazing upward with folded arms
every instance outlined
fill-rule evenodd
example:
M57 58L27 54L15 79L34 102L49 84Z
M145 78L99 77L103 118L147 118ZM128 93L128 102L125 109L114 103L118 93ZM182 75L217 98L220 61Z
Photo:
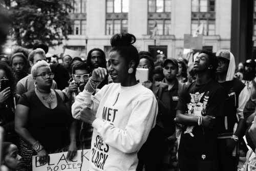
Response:
M177 110L193 116L223 116L225 91L215 80L198 85L196 81L185 86L181 92ZM216 160L217 158L217 123L213 129L202 126L184 125L179 153L202 160Z

